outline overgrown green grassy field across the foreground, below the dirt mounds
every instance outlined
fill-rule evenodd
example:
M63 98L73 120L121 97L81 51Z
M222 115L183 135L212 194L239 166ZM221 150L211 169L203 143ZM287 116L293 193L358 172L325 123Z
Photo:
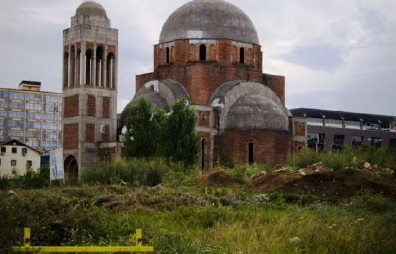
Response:
M15 192L15 193L14 193ZM0 196L0 252L22 245L128 245L157 253L394 253L396 206L381 195L327 202L242 188L80 186Z

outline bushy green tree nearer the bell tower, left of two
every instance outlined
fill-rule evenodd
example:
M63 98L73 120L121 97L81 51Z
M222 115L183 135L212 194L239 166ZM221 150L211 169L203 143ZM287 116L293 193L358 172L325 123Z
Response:
M125 121L126 156L149 158L158 155L166 118L165 112L154 110L145 97L131 105Z

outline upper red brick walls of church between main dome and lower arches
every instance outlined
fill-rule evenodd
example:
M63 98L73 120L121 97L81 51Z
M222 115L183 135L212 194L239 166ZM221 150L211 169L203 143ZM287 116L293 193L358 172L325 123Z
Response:
M217 40L207 45L208 61L197 61L199 44L176 40L172 50L172 63L165 65L165 51L154 46L154 72L136 76L136 91L150 80L173 79L184 86L193 104L207 105L212 93L224 82L243 79L269 86L284 103L284 77L262 74L260 45L245 49L246 64L239 64L239 48L230 40Z

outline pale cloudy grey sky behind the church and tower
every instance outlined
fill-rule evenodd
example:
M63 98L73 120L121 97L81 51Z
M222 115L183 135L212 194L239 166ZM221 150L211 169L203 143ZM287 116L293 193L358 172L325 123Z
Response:
M0 87L61 92L62 31L81 0L0 0ZM118 29L118 112L185 0L98 0ZM256 27L263 72L286 77L286 107L396 116L396 1L229 0Z

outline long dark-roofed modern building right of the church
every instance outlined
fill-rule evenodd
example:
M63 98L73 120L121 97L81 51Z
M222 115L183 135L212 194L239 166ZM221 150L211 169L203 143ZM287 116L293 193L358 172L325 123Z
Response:
M316 151L362 144L396 148L396 116L311 108L296 108L290 112L306 119L308 147Z

